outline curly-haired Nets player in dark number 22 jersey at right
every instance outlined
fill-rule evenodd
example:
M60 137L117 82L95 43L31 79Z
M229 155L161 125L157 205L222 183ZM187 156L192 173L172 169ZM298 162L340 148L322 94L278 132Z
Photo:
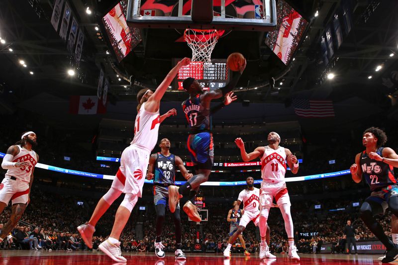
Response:
M398 185L394 176L394 168L398 167L398 155L389 147L382 147L387 142L387 136L379 128L371 127L365 130L362 144L366 150L355 157L355 164L350 168L352 179L359 183L365 177L372 191L362 203L360 214L369 230L383 243L387 249L382 263L390 263L398 257L398 245L391 242L376 221L375 215L383 213L382 204L388 203L391 212L398 215Z

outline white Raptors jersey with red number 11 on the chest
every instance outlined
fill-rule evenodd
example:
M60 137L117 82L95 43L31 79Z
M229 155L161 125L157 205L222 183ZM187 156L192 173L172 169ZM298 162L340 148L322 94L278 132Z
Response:
M285 148L280 146L277 150L274 150L267 145L261 158L261 177L264 179L263 181L271 183L284 182L285 173Z

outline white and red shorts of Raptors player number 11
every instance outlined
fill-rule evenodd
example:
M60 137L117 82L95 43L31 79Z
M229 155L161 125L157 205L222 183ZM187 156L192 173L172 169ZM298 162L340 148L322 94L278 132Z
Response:
M292 205L290 203L288 188L286 187L285 181L279 183L269 183L262 181L260 188L260 205L272 207L274 198L278 205Z

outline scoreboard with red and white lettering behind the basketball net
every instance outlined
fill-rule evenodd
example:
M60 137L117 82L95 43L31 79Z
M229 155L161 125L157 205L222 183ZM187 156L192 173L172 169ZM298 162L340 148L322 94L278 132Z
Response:
M180 59L174 60L176 65ZM211 63L191 62L178 71L175 87L177 90L184 90L183 81L189 77L198 80L203 90L214 90L225 87L229 82L229 68L226 59L214 59Z

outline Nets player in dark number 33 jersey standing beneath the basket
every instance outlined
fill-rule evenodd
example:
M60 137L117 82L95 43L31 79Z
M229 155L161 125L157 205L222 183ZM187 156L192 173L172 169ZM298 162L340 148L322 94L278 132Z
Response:
M149 158L147 179L151 180L155 177L153 183L153 194L156 211L156 239L155 239L155 254L158 258L164 258L165 252L163 251L164 246L162 245L162 229L163 222L165 220L165 209L166 201L168 200L169 193L168 189L170 185L174 185L176 178L176 167L181 171L183 177L187 180L192 177L191 173L188 173L184 167L183 161L179 156L170 153L170 141L164 138L160 141L159 147L161 152L152 154ZM155 174L153 174L155 172ZM177 260L185 260L187 257L181 250L181 218L180 218L180 206L177 205L176 211L173 214L174 226L176 229L176 244L177 249L175 256Z

